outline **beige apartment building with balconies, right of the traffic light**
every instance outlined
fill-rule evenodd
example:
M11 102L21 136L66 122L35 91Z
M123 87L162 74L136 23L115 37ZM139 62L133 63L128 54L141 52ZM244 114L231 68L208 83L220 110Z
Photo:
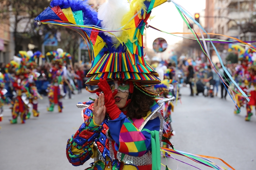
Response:
M240 24L248 22L255 11L255 0L214 0L214 32L242 40L251 39L251 34L243 34ZM220 36L221 39L229 39Z

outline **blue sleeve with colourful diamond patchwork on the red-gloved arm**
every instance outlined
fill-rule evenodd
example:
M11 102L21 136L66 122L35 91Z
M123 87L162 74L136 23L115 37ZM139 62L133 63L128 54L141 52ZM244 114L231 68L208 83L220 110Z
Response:
M130 156L143 156L151 149L151 134L139 131L131 119L121 113L119 118L109 121L109 131L115 141L115 149ZM149 120L143 129L159 131L160 119Z

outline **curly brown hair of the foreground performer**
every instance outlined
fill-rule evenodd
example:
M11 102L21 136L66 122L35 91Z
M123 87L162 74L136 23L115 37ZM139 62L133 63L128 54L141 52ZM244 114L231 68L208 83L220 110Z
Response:
M126 116L130 118L140 119L147 116L151 111L150 107L154 104L153 97L142 93L137 88L134 88L131 102L128 105Z

